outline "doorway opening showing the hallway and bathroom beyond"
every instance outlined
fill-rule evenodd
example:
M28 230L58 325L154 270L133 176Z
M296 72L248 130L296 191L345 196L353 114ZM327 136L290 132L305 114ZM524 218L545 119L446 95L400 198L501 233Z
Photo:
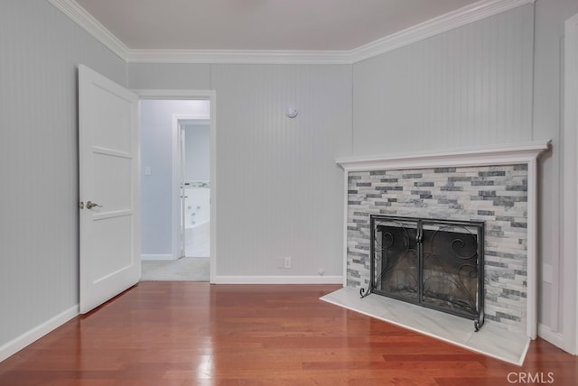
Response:
M141 97L142 280L212 281L214 92Z

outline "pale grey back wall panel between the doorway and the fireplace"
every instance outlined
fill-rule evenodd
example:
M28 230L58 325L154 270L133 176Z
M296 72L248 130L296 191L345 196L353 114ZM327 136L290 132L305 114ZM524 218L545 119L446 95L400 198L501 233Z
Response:
M342 171L350 153L347 65L214 65L217 275L339 277ZM288 107L299 115L290 119ZM293 258L284 270L281 257ZM341 279L333 279L340 282Z

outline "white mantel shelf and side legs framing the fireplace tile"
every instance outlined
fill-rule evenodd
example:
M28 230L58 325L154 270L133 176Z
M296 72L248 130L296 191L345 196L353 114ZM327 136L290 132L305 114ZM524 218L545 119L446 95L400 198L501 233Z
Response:
M537 335L537 159L549 150L551 141L510 143L461 148L447 152L421 152L354 156L335 162L345 170L344 179L344 286L347 286L348 177L350 171L407 170L447 167L527 164L527 328L531 339Z

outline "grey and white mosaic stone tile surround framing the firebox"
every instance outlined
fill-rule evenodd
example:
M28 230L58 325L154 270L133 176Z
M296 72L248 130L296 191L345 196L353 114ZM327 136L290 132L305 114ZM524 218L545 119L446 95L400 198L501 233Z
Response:
M484 221L486 321L526 334L527 180L527 163L350 171L347 286L369 285L369 215Z

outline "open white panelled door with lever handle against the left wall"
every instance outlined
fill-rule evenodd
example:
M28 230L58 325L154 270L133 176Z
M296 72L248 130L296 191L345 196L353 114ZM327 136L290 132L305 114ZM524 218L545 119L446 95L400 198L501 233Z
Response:
M138 97L79 66L80 313L140 280Z

